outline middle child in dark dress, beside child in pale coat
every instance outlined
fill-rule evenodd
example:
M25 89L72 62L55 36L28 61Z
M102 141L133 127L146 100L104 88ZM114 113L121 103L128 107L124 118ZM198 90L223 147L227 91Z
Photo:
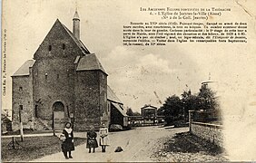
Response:
M86 149L89 149L89 153L91 153L91 149L93 148L93 152L95 152L95 148L98 148L98 142L97 142L97 133L94 131L94 127L91 127L91 129L87 132L87 143L86 143Z

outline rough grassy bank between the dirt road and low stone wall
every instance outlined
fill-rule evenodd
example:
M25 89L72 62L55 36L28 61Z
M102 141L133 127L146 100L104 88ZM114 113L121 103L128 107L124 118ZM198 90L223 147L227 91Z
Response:
M174 162L223 162L225 151L210 141L201 139L190 132L177 133L163 140L162 148L155 154L160 161Z

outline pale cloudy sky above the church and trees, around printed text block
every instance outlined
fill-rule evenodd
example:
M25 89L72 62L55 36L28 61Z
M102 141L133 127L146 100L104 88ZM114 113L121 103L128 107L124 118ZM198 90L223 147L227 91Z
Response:
M72 31L75 8L81 19L81 40L96 53L108 73L108 84L124 106L140 111L144 104L160 107L168 96L201 83L218 83L227 124L255 127L255 2L181 0L8 0L4 1L3 29L7 30L7 90L2 108L11 110L11 75L33 58L39 44L58 18ZM188 2L190 4L188 4ZM140 7L212 7L228 6L231 12L213 17L212 22L247 22L248 43L170 43L166 46L123 46L123 25L130 22L161 21L139 11ZM180 80L178 80L180 79ZM186 85L188 87L186 87ZM158 97L154 94L157 93ZM254 103L253 103L254 102ZM230 123L233 118L240 122ZM253 117L247 120L247 117ZM229 121L230 120L230 121ZM230 127L230 128L229 128ZM227 127L227 135L229 129ZM239 131L241 131L238 129ZM256 129L256 128L254 128ZM241 139L237 138L230 142ZM239 156L233 151L234 156ZM240 156L241 157L241 156ZM235 157L234 157L235 158Z

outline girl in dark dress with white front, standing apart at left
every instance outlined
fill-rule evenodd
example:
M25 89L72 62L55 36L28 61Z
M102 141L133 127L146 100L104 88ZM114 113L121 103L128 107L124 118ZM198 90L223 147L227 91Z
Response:
M71 156L71 151L74 150L74 133L73 129L71 129L71 123L67 122L65 124L65 129L63 130L64 134L64 142L62 143L62 150L64 152L64 158L73 158ZM69 157L67 157L67 152L69 154Z

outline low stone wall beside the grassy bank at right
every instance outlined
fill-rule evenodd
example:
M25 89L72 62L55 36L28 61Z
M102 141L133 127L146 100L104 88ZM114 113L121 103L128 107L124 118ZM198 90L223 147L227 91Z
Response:
M190 132L223 148L223 127L211 123L191 122Z

